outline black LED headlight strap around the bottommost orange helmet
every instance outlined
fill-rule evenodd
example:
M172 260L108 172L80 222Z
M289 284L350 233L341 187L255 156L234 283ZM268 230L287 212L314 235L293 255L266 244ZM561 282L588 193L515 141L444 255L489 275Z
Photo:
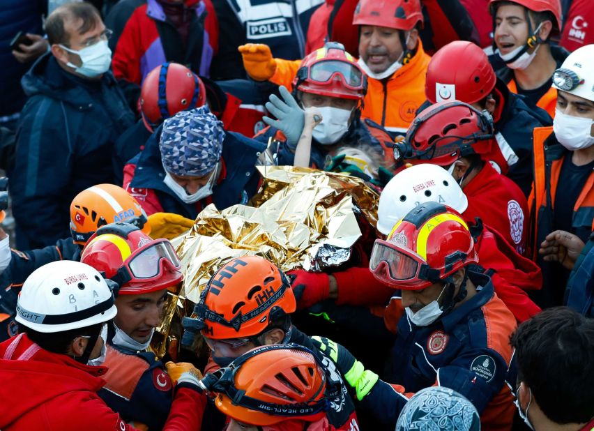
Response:
M291 349L303 351L313 356L317 365L321 370L324 370L322 384L317 388L317 393L311 397L310 402L300 402L294 404L275 404L272 402L266 402L257 400L248 395L245 395L245 391L235 387L235 375L241 369L241 365L248 361L248 359L261 354L265 351L279 350L279 349ZM257 347L246 354L239 356L235 361L231 362L229 367L221 368L216 372L218 379L202 379L201 386L204 391L215 392L226 395L232 400L234 405L245 407L246 409L260 411L261 413L273 415L273 416L284 416L287 418L297 418L303 416L312 416L319 414L322 411L328 411L330 407L330 400L342 397L342 390L340 383L334 379L328 378L326 374L327 368L321 363L319 358L303 346L290 343L287 345L266 345ZM326 387L325 387L326 386ZM323 393L322 391L325 392ZM322 394L321 398L318 395ZM219 395L220 396L220 395ZM318 398L316 400L316 398Z

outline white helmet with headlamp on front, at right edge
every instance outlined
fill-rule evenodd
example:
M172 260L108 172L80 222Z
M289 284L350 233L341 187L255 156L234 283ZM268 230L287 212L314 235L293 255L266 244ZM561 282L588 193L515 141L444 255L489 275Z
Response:
M553 88L594 102L594 45L568 55L553 74Z

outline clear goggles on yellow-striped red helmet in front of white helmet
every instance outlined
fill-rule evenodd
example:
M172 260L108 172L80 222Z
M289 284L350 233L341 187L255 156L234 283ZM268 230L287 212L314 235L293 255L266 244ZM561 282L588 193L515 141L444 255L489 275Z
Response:
M429 267L425 259L416 252L399 247L396 242L376 239L370 258L370 271L375 277L396 287L420 287L427 282L439 282L439 271Z

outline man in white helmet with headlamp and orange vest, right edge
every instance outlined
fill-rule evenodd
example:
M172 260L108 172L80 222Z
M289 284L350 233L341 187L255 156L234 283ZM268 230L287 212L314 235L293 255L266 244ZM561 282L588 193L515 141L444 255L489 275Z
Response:
M531 209L532 258L542 268L545 285L535 294L541 307L563 303L569 271L545 262L538 248L555 230L586 242L594 220L594 45L581 47L555 71L558 91L553 126L534 130L534 184Z

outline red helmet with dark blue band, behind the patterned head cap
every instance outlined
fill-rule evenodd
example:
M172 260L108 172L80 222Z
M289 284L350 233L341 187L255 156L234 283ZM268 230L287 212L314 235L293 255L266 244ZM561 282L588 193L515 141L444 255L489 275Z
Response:
M151 132L180 111L206 103L202 80L185 66L163 63L146 75L140 91L140 113Z

